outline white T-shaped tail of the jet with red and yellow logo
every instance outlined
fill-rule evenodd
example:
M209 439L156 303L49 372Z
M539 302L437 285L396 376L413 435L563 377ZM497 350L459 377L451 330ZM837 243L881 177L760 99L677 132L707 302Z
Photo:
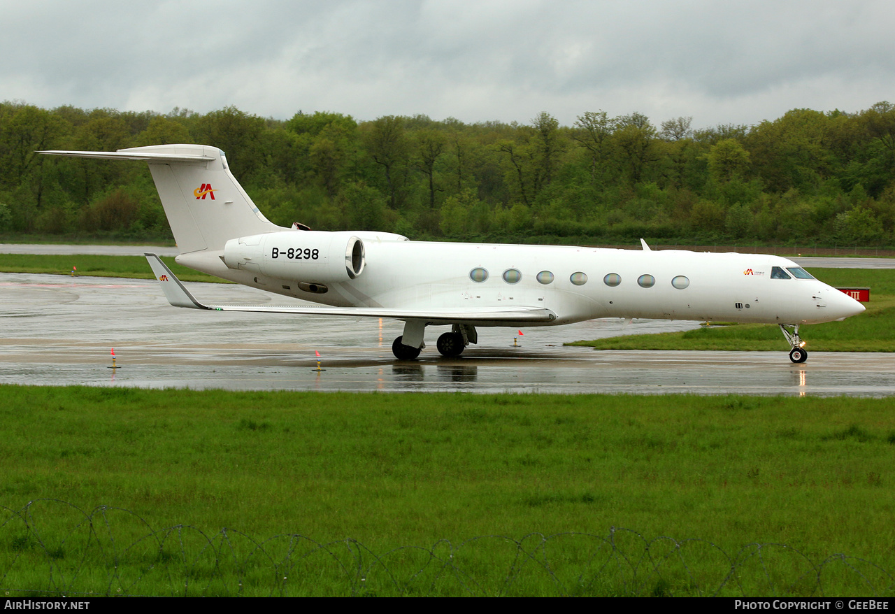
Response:
M153 145L118 151L41 151L76 158L149 162L180 252L217 252L239 236L286 230L268 221L230 173L224 152L208 145Z

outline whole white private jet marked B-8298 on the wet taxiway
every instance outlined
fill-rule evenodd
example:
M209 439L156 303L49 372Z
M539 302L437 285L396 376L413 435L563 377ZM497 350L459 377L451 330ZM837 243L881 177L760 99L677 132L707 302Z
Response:
M557 326L594 318L724 320L779 324L804 362L801 324L864 311L854 299L785 258L739 253L424 243L375 232L319 232L272 224L204 145L56 156L142 160L158 188L177 262L245 286L328 307L204 305L154 254L149 264L177 307L404 320L392 351L412 360L428 326L450 327L439 352L461 354L477 327Z

